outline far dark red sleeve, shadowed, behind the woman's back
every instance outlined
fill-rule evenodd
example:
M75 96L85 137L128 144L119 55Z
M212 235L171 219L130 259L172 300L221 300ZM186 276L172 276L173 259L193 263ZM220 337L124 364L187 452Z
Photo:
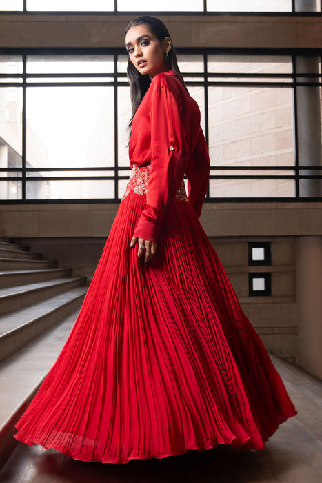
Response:
M186 172L188 177L188 199L192 203L197 217L200 217L203 200L208 189L210 172L209 152L201 128Z

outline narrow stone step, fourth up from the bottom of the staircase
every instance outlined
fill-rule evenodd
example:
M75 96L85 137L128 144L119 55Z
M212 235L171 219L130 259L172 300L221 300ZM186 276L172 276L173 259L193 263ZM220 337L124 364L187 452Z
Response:
M35 284L43 280L70 277L71 268L52 268L48 270L14 270L0 271L0 288L13 287L24 284Z

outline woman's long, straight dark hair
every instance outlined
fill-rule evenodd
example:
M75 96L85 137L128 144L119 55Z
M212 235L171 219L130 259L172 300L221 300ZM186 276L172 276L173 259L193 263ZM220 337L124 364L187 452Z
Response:
M141 17L137 17L136 19L130 21L127 28L125 28L125 35L128 33L131 27L136 27L138 25L145 25L148 27L150 32L157 37L159 42L162 42L165 37L170 37L168 32L168 28L165 27L163 21L157 19L157 17L152 17L151 15L141 15ZM171 39L171 37L170 37ZM183 83L185 86L185 81L183 81L183 77L178 67L177 62L177 52L173 46L169 55L169 63L171 63L171 68L174 71L174 74L177 75L178 79ZM128 59L128 80L130 82L130 90L131 90L131 103L132 103L132 117L130 119L128 128L130 131L132 130L132 119L134 117L135 112L137 112L137 108L139 107L145 92L147 92L148 88L150 87L151 79L149 75L142 75L138 70L134 67L130 58ZM188 89L185 86L185 90Z

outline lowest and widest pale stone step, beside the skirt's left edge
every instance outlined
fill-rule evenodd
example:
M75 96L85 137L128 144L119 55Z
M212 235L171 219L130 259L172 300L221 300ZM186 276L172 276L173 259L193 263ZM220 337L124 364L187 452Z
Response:
M0 468L17 446L14 424L19 420L72 330L81 306L61 318L50 331L0 364ZM1 480L1 478L0 478Z

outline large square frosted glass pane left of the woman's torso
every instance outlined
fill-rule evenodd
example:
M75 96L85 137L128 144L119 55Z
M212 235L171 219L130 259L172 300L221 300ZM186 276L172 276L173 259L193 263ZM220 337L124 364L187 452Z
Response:
M113 88L30 87L26 100L30 166L114 166Z

